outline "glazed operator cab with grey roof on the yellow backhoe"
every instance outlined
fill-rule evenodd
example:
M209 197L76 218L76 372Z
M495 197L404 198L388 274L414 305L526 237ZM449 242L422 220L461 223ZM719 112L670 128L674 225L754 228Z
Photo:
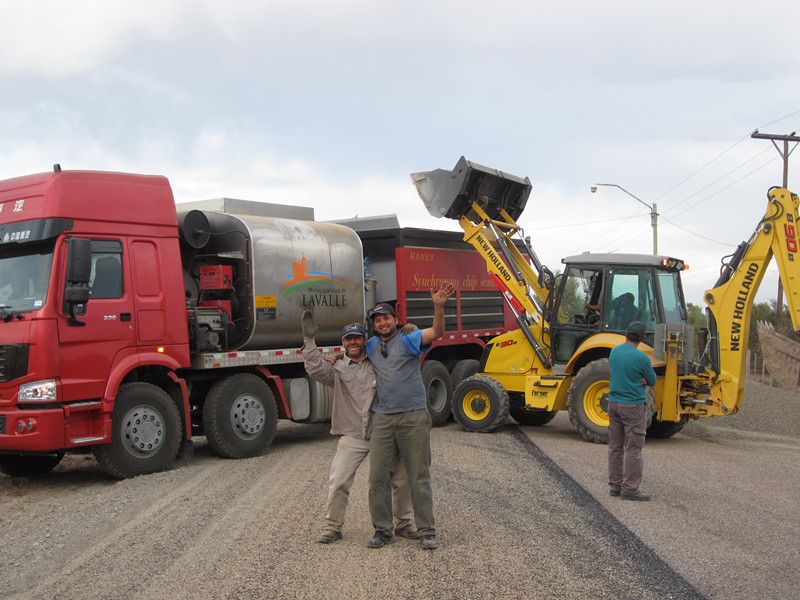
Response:
M680 281L683 261L639 254L581 254L566 265L550 312L553 362L566 363L589 337L624 334L631 321L645 324L652 346L656 325L686 323Z

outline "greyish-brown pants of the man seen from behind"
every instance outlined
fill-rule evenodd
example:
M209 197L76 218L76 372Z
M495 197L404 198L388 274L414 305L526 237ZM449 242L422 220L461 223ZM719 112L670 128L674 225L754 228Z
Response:
M624 494L642 483L646 416L644 404L608 403L608 485Z

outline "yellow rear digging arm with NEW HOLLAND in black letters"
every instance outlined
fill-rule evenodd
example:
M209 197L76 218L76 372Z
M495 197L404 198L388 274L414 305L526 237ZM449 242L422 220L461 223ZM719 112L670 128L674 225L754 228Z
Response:
M800 226L798 197L772 188L769 204L752 237L724 265L707 290L710 341L704 359L712 375L711 400L724 414L736 412L746 379L750 317L756 291L772 257L778 265L795 330L800 329Z

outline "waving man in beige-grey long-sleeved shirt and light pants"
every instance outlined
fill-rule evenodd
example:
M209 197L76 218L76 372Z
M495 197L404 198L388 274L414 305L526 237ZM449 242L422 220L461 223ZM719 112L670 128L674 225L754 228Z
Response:
M336 456L328 479L328 503L325 509L325 528L317 538L329 544L342 538L342 525L347 499L359 465L369 453L372 430L372 403L375 399L375 369L364 353L366 330L352 323L342 330L345 355L334 364L322 358L314 343L317 326L311 311L301 319L303 329L303 363L309 376L323 385L333 387L331 434L339 436ZM406 471L398 465L392 479L392 511L395 533L416 539L414 512Z

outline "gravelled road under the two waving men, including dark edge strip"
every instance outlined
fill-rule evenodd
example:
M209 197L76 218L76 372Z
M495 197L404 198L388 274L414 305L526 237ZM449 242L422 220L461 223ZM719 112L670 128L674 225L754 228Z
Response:
M203 445L122 482L72 457L0 480L0 577L17 597L691 598L695 589L515 428L434 431L434 552L370 550L366 471L344 539L314 543L335 442L281 427L264 457Z

